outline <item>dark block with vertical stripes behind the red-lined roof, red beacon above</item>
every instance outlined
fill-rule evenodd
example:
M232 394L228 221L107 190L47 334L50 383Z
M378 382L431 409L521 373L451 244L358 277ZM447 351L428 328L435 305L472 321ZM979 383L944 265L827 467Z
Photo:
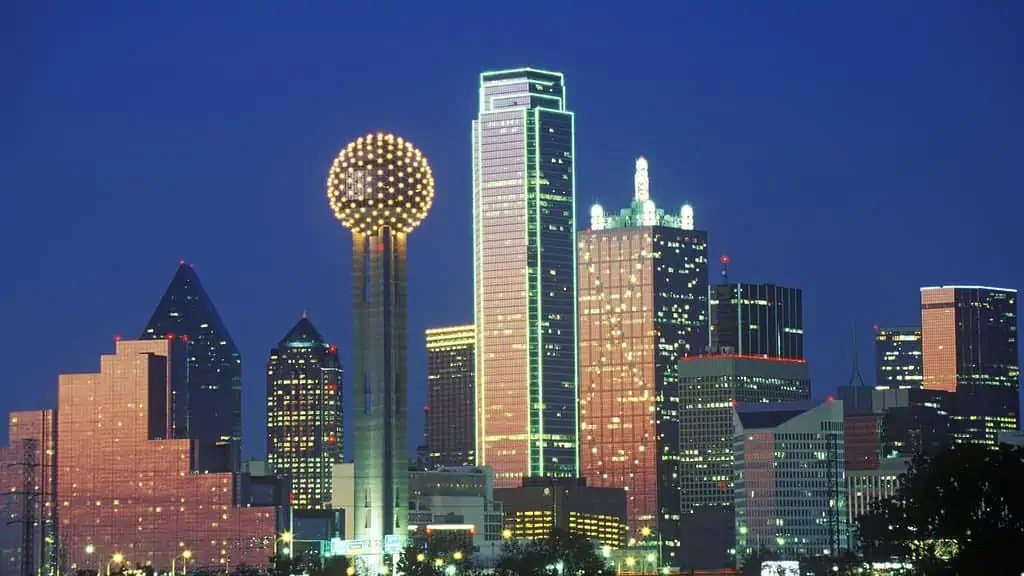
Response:
M774 284L713 284L709 291L713 354L804 359L804 297Z

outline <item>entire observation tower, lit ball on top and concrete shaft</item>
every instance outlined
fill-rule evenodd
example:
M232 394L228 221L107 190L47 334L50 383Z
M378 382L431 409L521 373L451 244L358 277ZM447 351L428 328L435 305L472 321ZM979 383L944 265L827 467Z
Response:
M406 240L430 209L434 177L416 147L377 133L342 149L327 192L352 231L355 538L380 567L409 533Z

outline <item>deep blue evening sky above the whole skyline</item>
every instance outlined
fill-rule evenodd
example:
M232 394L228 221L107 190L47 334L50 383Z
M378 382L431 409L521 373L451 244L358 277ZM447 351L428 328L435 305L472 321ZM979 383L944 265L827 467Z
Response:
M261 454L263 367L303 310L348 364L325 179L383 129L437 181L410 241L422 429L423 329L472 321L478 74L518 66L566 75L582 223L629 201L644 154L731 279L804 289L815 396L849 378L854 323L873 381L870 326L916 322L920 286L1024 288L1021 30L1014 0L2 2L0 412L53 406L185 258L242 349Z

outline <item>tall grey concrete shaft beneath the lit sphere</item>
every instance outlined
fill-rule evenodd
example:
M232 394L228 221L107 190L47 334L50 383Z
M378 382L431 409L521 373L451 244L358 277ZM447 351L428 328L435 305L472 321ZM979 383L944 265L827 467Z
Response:
M355 537L375 549L409 524L406 240L352 234Z

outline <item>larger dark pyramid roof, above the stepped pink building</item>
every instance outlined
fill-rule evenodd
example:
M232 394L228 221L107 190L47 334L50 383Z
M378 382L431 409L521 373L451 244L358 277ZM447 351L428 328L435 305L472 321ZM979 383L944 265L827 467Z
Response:
M186 335L217 343L222 341L225 342L223 352L232 356L239 354L217 308L203 289L196 269L184 260L179 263L140 338L165 338L168 335Z

